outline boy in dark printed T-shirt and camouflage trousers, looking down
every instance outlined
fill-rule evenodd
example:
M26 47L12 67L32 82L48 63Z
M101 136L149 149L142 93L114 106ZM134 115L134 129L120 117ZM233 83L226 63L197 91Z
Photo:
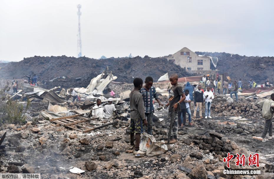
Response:
M167 133L169 133L170 125L172 125L172 130L170 132L170 138L168 139L170 144L177 142L178 133L178 112L181 111L180 103L186 98L183 89L178 84L178 75L172 74L169 78L172 85L169 93L169 113L166 117ZM181 98L181 99L180 99ZM173 119L171 119L173 118Z

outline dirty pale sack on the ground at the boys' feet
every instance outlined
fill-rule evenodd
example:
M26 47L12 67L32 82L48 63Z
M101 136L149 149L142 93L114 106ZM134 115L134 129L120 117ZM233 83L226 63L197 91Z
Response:
M146 152L147 156L155 156L165 153L167 146L163 140L157 142L153 135L143 132L143 134L141 134L139 149Z

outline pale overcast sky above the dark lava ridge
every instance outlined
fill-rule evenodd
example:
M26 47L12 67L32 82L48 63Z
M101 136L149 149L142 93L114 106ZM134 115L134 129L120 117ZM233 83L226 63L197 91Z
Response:
M0 60L82 55L160 57L192 51L274 56L273 0L5 0Z

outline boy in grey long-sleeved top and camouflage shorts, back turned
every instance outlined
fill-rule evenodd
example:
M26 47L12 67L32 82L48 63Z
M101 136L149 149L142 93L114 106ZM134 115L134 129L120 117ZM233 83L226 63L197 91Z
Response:
M139 150L141 133L143 133L143 125L148 125L146 120L143 96L139 92L143 86L141 78L133 80L134 89L129 94L130 103L130 149L134 148L135 134L135 150L134 155L145 155L146 152Z

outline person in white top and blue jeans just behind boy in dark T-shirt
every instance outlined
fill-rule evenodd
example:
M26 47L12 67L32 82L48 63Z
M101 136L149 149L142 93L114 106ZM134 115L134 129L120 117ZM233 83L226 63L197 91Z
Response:
M189 98L189 90L186 89L185 90L185 96L186 96L186 99L180 104L181 105L181 115L179 115L179 119L182 119L183 117L183 124L181 124L181 127L185 126L186 125L186 113L188 114L188 122L189 122L189 125L193 125L192 122L191 122L191 111L190 111L190 103L191 103L191 100ZM178 120L180 121L180 120ZM179 125L180 125L181 122L179 122Z

